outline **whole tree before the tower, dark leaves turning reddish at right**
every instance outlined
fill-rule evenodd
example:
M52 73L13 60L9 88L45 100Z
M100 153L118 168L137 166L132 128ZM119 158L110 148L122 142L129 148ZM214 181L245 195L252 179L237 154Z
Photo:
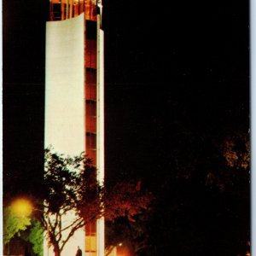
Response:
M133 217L148 210L152 196L136 183L117 183L106 189L96 181L96 168L84 154L70 157L45 150L44 230L61 255L67 241L84 225L98 218ZM63 218L71 214L70 222ZM65 231L65 232L64 232Z

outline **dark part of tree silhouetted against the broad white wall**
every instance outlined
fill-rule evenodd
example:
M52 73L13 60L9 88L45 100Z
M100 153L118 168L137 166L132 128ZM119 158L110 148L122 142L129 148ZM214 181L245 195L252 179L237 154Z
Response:
M84 225L76 211L81 201L79 191L82 188L84 156L65 157L46 149L44 163L44 230L47 230L55 255L60 255L70 237ZM73 212L72 218L64 225L62 220L68 212ZM64 236L64 231L67 236Z

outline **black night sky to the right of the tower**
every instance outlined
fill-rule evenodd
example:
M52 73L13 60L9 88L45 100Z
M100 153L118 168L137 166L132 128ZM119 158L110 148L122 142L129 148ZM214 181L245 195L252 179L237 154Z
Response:
M248 125L247 2L105 3L107 172L170 172L181 130Z

